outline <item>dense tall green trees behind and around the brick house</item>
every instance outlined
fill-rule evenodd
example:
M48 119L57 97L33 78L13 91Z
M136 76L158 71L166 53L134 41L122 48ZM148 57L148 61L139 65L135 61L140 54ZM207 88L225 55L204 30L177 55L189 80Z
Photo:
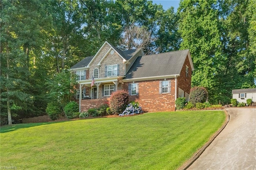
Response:
M206 87L210 103L229 103L232 89L255 87L255 8L253 0L181 0L177 12L147 0L0 0L1 124L69 101L58 87L70 83L66 69L105 41L144 53L190 49L192 85ZM151 39L126 43L129 28Z

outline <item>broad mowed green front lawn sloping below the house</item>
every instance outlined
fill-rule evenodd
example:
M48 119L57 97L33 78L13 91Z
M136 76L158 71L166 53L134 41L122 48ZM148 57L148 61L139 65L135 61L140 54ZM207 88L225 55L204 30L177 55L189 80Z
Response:
M224 111L182 111L6 126L0 134L0 166L172 170L224 121Z

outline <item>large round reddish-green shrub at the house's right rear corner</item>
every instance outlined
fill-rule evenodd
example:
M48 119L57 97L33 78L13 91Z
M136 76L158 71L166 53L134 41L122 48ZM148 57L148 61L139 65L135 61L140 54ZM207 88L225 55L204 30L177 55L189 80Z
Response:
M193 87L190 89L190 102L193 105L196 105L196 103L204 103L207 99L208 92L206 88L204 87Z

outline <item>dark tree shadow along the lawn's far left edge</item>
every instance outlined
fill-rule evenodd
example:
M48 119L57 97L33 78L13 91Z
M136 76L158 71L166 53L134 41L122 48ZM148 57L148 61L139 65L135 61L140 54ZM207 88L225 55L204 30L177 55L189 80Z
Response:
M0 133L6 133L6 132L12 132L14 130L18 130L20 128L30 128L30 127L36 127L41 125L49 125L49 124L55 124L55 123L61 123L63 121L59 122L44 122L44 123L23 123L23 124L13 124L13 125L4 125L0 128Z

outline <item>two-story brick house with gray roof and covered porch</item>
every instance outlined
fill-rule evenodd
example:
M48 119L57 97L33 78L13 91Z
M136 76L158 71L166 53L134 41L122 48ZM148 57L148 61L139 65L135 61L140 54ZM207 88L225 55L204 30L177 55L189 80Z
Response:
M142 49L120 51L108 42L70 68L78 76L80 111L99 107L121 89L145 111L174 111L178 97L189 100L193 70L188 49L144 55Z

